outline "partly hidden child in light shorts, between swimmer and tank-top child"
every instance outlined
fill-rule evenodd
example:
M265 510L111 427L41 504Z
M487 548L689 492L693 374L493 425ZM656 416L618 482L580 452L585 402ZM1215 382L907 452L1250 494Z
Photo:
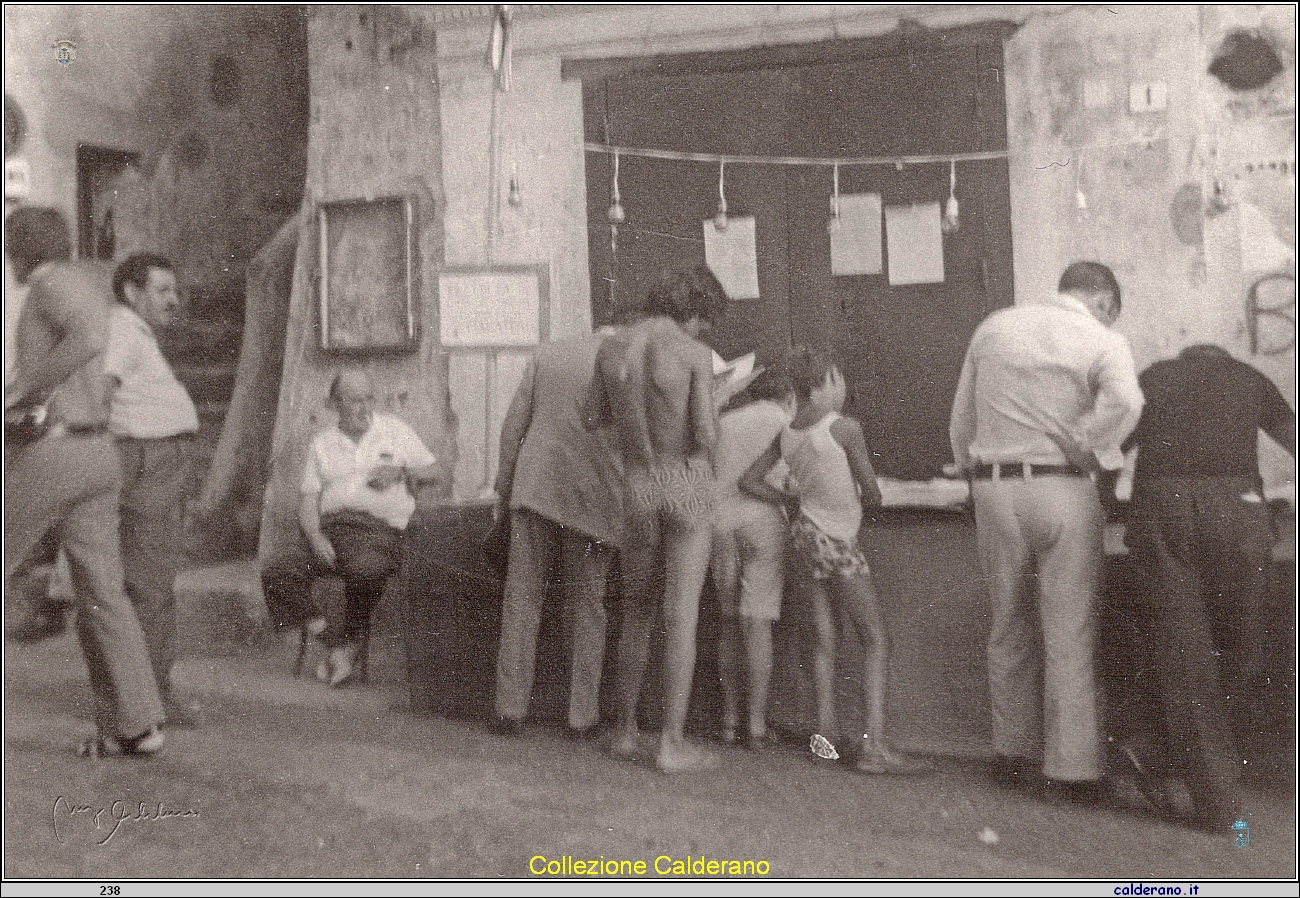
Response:
M780 617L784 578L785 515L779 507L745 495L740 477L772 444L794 412L788 374L762 373L718 420L716 506L710 571L722 611L718 667L723 686L723 742L740 728L742 686L750 749L767 736L767 689L772 678L772 621ZM741 654L744 645L744 655ZM742 665L748 676L742 674Z

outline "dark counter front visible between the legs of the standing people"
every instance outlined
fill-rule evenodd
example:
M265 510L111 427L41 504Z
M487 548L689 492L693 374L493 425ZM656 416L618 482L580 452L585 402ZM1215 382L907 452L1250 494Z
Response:
M407 598L407 676L416 712L488 719L493 713L502 581L481 550L491 524L488 506L421 509L407 530L400 581ZM959 509L885 508L867 522L863 545L880 593L890 637L888 725L890 738L914 751L983 755L989 751L988 600L975 546L974 521ZM1279 560L1269 613L1270 691L1261 695L1277 721L1273 736L1294 728L1294 554ZM619 591L616 567L606 600L608 639L601 687L602 712L616 710L612 690ZM1144 733L1158 724L1154 669L1144 660L1149 642L1140 568L1127 556L1108 559L1098 600L1097 669L1112 732ZM803 736L814 729L806 600L788 585L774 629L775 665L768 716L775 726ZM696 682L688 732L711 736L720 719L719 615L711 590L701 600ZM568 659L563 606L547 597L537 641L537 680L529 719L562 724L567 710ZM651 658L660 654L656 645ZM838 646L841 729L863 720L855 638ZM654 726L662 708L658 664L651 661L642 723ZM861 732L861 730L858 730ZM1292 749L1294 751L1294 745Z

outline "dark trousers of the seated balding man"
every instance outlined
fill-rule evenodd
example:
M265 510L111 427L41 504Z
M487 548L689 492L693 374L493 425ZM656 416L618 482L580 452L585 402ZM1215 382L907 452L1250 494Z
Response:
M312 600L312 582L317 577L341 577L343 620L330 625L321 641L329 646L358 642L369 632L370 611L402 563L402 530L364 512L342 511L321 516L321 533L334 547L334 564L325 564L306 548L268 564L261 572L266 612L276 626L302 626L320 615Z

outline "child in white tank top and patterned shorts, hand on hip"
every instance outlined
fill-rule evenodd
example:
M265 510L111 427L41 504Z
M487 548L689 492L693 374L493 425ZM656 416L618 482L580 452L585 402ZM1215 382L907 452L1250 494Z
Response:
M741 489L749 495L786 507L790 542L802 565L812 606L815 650L812 676L818 703L818 733L811 749L820 758L838 758L833 739L835 643L837 621L852 625L863 642L862 689L867 732L857 768L863 773L914 773L927 765L889 747L885 739L885 674L888 635L880 598L867 559L858 546L863 506L880 506L880 489L862 435L862 426L840 415L845 381L824 351L796 350L790 376L798 408L794 420L745 472ZM764 481L784 459L786 489Z

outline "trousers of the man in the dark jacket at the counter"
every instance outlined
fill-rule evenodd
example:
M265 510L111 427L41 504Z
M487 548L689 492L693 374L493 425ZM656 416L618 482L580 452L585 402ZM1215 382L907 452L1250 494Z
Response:
M510 565L497 652L497 713L523 720L528 712L542 607L547 590L559 587L572 659L568 725L586 729L599 720L610 555L607 546L584 533L526 508L511 512Z

